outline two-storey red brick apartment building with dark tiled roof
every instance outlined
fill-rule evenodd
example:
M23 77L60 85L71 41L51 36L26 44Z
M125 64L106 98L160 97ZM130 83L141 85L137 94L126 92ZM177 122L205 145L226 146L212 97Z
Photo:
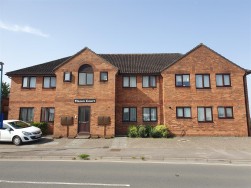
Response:
M55 137L125 135L165 124L176 135L248 136L250 70L200 44L188 53L73 56L8 72L9 119Z

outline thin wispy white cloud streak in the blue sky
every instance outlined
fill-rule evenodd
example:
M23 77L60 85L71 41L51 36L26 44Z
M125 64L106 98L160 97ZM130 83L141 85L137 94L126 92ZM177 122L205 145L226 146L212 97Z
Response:
M24 33L37 35L37 36L40 36L40 37L45 37L45 38L49 37L48 34L43 33L39 29L30 27L30 26L26 26L26 25L20 26L20 25L17 25L17 24L7 24L7 23L4 23L2 21L0 21L0 29L5 29L5 30L8 30L8 31L13 31L13 32L24 32Z

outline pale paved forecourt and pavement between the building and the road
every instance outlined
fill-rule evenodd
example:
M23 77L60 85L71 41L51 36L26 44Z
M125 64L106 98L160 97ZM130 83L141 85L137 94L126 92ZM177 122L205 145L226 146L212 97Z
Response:
M251 137L53 139L0 143L0 160L89 160L251 164Z

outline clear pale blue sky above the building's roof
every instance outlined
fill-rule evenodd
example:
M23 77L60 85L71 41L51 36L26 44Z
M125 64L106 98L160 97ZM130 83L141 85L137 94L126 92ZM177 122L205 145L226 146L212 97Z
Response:
M199 43L251 69L251 1L0 0L4 72L86 46L96 53L186 53ZM251 75L248 86L251 100Z

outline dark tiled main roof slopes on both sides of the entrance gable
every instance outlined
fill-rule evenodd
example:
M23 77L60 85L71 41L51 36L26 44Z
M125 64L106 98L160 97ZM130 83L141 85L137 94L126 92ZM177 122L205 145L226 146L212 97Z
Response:
M180 53L160 54L97 54L119 69L120 73L151 73L159 74L161 70L180 58ZM43 64L7 72L7 76L14 75L53 75L54 69L72 56L46 62Z

